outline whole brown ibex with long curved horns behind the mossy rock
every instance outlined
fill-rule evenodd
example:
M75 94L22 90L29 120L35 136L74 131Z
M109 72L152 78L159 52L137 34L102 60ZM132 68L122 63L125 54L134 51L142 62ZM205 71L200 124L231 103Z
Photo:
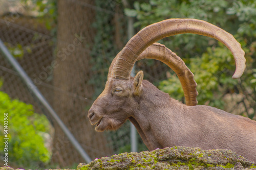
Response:
M149 150L174 145L204 150L228 149L256 162L256 121L210 106L194 106L198 93L193 74L184 65L175 67L168 63L166 56L170 54L166 47L152 46L164 37L183 33L212 37L225 44L237 65L233 78L241 77L245 69L245 53L231 34L202 20L163 20L138 32L112 61L105 89L89 110L91 124L96 125L96 131L102 132L116 130L129 119ZM187 105L143 80L142 71L134 78L130 76L138 59L157 58L145 57L147 55L162 56L159 60L170 67L185 69L178 70L178 76Z

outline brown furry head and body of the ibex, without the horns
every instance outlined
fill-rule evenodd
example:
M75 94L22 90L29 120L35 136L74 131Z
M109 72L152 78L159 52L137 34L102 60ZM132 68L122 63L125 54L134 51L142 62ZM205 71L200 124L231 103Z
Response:
M97 131L116 130L127 119L149 150L183 145L228 149L256 162L256 121L209 106L186 106L143 80L109 79L89 110Z

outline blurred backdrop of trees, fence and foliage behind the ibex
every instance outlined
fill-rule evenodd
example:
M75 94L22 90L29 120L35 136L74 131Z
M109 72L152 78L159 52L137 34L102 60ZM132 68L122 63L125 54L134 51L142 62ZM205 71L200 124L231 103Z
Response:
M231 78L235 63L217 40L183 34L160 40L183 59L198 83L198 102L256 120L256 2L224 0L9 0L0 1L0 39L90 159L145 151L125 123L99 133L87 113L102 92L112 59L143 27L168 18L197 18L231 33L242 45L246 70ZM184 102L172 70L155 60L135 72ZM51 111L33 93L8 56L0 53L0 137L8 113L8 165L14 168L76 168L87 162ZM131 139L137 144L131 147ZM0 143L3 158L4 143ZM132 149L133 148L133 149ZM1 161L1 166L4 162Z

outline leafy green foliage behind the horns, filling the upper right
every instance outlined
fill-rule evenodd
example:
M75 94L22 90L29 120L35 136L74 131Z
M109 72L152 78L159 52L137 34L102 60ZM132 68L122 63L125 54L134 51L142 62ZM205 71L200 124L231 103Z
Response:
M177 53L195 75L198 83L199 104L223 109L222 98L227 93L243 93L240 103L248 102L256 110L256 2L224 0L150 0L134 3L134 9L125 14L136 17L135 27L143 28L168 18L196 18L221 27L241 43L246 52L246 70L242 78L231 79L234 60L228 49L218 41L198 35L176 35L160 41ZM160 82L159 88L173 98L184 100L183 90L177 76L169 76ZM246 102L245 102L246 101ZM244 104L245 105L245 104ZM255 113L249 114L252 118Z

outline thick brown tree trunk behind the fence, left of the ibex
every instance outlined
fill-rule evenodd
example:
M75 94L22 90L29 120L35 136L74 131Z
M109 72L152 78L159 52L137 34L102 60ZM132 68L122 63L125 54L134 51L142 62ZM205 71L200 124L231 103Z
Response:
M87 114L92 105L94 88L88 83L90 47L95 30L93 0L59 0L56 58L54 68L54 109L89 156L99 158L112 154L104 133L97 133ZM85 162L62 130L55 124L52 162L61 167Z

